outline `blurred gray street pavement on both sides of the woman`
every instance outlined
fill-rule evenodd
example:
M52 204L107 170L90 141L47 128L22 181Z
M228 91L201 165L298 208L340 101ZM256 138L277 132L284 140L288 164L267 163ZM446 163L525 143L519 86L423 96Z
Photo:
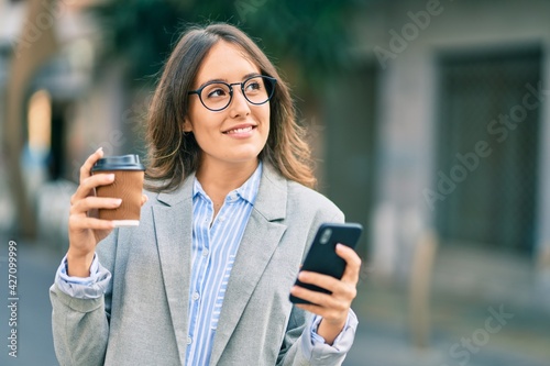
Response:
M55 366L58 365L52 342L48 288L54 280L55 270L62 253L29 244L18 240L1 237L0 253L0 293L4 298L0 329L4 345L1 347L2 366ZM16 243L16 244L13 244ZM16 299L12 298L9 287L9 252L16 247ZM13 260L12 260L13 262ZM12 266L13 267L13 266ZM12 270L13 271L13 270ZM16 302L16 311L9 308ZM469 301L433 301L433 332L429 347L420 350L411 346L407 328L406 291L389 291L365 281L359 287L359 296L353 309L360 319L354 345L344 366L548 366L550 359L548 339L550 319L543 314L521 312L506 303L506 311L514 311L514 318L491 339L480 339L487 315L498 318L495 304L487 307ZM14 308L12 308L14 309ZM513 310L509 310L513 309ZM16 320L16 325L11 319ZM501 317L502 318L502 317ZM504 317L506 318L506 317ZM497 319L498 320L498 319ZM501 320L503 322L503 320ZM493 322L493 328L498 323ZM13 325L13 326L12 326ZM486 326L486 325L485 325ZM10 356L9 340L16 330L16 357ZM488 334L488 333L487 333ZM463 340L473 339L473 347L461 345ZM483 344L480 344L483 341ZM477 343L476 343L477 342ZM468 344L466 344L468 346ZM454 351L453 351L454 350ZM471 350L471 352L469 351Z

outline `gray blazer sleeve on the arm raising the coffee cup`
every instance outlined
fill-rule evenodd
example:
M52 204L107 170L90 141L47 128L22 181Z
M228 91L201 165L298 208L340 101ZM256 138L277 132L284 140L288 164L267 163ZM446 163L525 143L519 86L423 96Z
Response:
M101 265L112 274L118 230L98 244ZM112 284L112 278L111 278ZM100 366L109 337L112 285L97 299L78 299L50 288L54 347L61 366Z

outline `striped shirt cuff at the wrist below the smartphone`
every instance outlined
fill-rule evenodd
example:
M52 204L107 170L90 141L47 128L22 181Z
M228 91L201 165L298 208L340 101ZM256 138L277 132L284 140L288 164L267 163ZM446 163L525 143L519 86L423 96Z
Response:
M336 337L332 345L324 343L324 339L317 334L317 329L321 320L322 317L312 317L302 334L301 342L306 358L321 362L323 365L337 365L337 361L343 359L353 344L359 324L358 317L353 310L350 309L345 325Z

